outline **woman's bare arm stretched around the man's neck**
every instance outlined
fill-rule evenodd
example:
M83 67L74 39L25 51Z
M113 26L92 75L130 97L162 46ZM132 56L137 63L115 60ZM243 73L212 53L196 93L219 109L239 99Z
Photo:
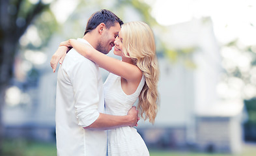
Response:
M127 62L122 62L118 59L108 57L107 55L100 53L100 51L97 51L90 45L83 44L78 40L70 39L68 40L68 42L63 42L62 44L68 47L73 47L74 49L76 49L76 51L78 51L78 53L80 53L87 59L92 60L101 68L104 68L111 73L119 75L126 80L137 81L137 79L141 79L141 70L139 70L139 68L137 68L137 66L135 66L134 64L129 64Z

